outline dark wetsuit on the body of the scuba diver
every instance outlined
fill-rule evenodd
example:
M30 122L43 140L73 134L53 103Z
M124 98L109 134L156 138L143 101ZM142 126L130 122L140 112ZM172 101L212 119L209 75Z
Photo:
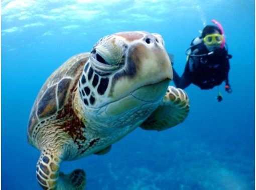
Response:
M193 41L191 43L193 45ZM201 89L210 89L220 85L225 80L228 84L229 58L225 48L218 48L212 54L193 56L209 53L203 42L191 47L192 53L188 57L184 73L181 77L173 69L173 80L176 87L186 88L193 83Z

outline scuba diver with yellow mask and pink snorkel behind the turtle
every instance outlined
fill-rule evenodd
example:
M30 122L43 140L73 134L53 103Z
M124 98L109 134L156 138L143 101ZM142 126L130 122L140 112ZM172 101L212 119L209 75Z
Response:
M201 89L211 89L225 81L225 90L232 92L228 81L229 60L225 44L224 31L219 22L212 20L215 25L206 25L202 34L192 40L191 46L186 49L187 62L184 73L180 77L173 69L173 81L176 87L186 88L191 83ZM222 100L219 92L217 100Z

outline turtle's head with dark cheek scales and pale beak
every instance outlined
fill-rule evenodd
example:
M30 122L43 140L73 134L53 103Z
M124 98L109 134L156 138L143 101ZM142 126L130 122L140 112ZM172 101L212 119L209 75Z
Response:
M172 77L160 34L132 31L107 35L93 46L80 77L83 112L97 119L121 117L144 107L151 113Z

